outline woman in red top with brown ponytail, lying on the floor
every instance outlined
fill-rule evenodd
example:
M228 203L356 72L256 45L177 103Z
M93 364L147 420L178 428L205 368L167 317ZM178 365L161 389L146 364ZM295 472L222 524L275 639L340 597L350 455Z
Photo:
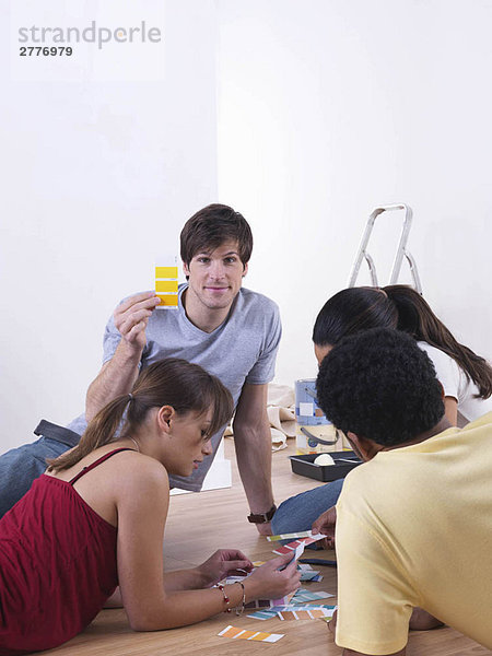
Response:
M109 598L125 606L133 630L155 631L298 587L295 562L279 571L289 555L223 588L212 586L253 569L241 551L164 573L168 473L189 476L233 409L214 376L163 360L101 410L78 446L49 462L0 520L1 656L70 640Z

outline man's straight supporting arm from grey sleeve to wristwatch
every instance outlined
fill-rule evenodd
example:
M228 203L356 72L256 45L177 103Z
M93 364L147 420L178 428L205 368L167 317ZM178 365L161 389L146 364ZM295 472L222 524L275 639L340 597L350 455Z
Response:
M237 466L251 513L266 513L273 505L271 488L271 431L267 414L268 385L243 387L234 419ZM258 524L270 535L270 524Z

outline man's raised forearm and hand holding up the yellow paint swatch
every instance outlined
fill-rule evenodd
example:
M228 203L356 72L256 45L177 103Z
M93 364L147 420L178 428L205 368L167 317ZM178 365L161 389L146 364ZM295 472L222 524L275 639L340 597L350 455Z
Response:
M115 326L121 335L112 360L106 362L91 383L85 399L85 418L91 421L109 401L129 394L139 373L145 345L145 328L152 311L159 304L153 292L131 296L114 312Z

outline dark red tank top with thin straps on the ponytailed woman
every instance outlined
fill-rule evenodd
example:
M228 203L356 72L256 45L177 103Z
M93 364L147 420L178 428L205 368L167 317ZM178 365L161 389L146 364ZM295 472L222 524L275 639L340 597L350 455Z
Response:
M73 489L43 475L0 520L0 656L49 649L92 622L118 585L117 529Z

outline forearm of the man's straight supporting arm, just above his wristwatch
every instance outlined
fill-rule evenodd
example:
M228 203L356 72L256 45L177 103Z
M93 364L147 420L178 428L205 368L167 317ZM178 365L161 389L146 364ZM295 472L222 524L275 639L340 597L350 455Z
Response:
M273 505L271 489L271 432L268 422L258 427L234 425L237 467L253 513Z

